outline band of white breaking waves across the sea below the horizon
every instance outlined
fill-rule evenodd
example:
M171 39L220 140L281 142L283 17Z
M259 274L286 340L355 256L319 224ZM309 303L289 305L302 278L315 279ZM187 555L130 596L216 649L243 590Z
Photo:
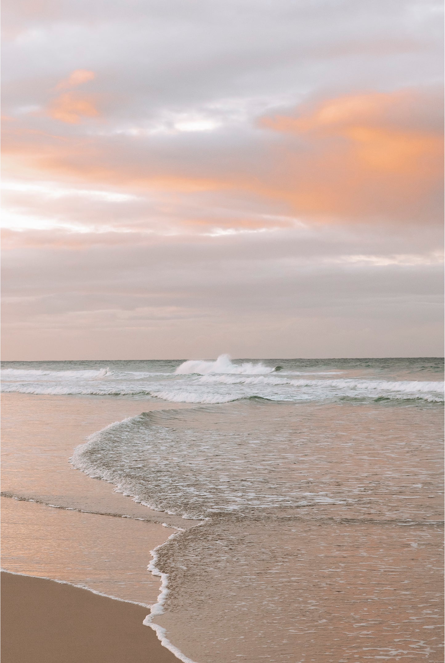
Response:
M363 362L359 371L355 366L351 370L350 360L336 360L327 366L320 365L320 360L312 365L304 360L278 361L283 367L277 361L269 361L269 366L252 361L233 363L228 355L220 355L216 361L185 361L179 365L173 361L146 361L97 367L92 362L64 362L58 370L54 370L55 362L20 369L8 365L2 371L1 391L131 396L190 404L222 404L245 398L295 403L344 399L444 402L444 382L434 380L438 373L434 361L434 371L429 369L429 373L424 372L423 364L415 365L414 371L410 365L410 370L404 367L401 371L399 360L391 360L391 372L391 363L382 369L384 360L379 360L375 369Z

